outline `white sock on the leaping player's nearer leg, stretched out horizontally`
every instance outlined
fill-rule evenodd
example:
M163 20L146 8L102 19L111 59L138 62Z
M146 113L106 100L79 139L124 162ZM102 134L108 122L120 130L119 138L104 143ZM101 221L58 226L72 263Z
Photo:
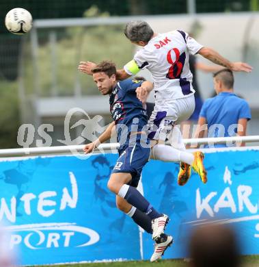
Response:
M163 162L185 162L189 165L194 160L192 153L180 151L165 144L156 144L152 147L151 158L153 160L162 160Z

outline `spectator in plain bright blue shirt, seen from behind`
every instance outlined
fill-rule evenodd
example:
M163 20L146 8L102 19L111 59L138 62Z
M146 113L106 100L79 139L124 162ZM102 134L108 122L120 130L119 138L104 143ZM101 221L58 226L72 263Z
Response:
M251 111L247 101L234 94L232 71L223 68L213 77L217 96L204 102L195 137L204 137L205 131L208 131L208 138L236 136L236 134L245 136ZM215 147L232 147L233 145L215 144ZM245 143L242 143L241 146L245 146Z

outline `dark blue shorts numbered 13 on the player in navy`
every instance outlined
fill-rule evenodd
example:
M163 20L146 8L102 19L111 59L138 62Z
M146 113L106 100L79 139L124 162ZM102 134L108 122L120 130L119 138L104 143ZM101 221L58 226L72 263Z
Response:
M126 147L118 158L111 173L131 173L130 186L137 187L142 168L148 162L150 157L150 147L143 147L140 141L137 141L134 147Z

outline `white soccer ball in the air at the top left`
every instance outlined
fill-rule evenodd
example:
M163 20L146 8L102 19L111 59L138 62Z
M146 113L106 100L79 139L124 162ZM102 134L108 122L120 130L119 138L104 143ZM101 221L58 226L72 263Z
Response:
M24 8L14 8L5 16L5 27L12 34L26 34L32 26L31 13Z

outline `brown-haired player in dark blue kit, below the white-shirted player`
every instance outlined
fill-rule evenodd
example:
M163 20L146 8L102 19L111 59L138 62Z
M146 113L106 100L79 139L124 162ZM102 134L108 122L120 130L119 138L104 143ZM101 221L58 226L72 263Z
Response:
M148 117L137 94L141 88L152 90L153 84L131 79L116 81L115 64L107 61L98 64L92 73L98 90L110 96L110 111L114 121L98 140L86 144L83 150L85 153L92 152L100 143L111 138L115 128L120 143L119 158L107 186L116 194L117 207L131 216L137 225L152 233L156 245L150 261L154 262L172 244L172 236L164 233L168 216L157 212L137 190L141 170L148 162L151 150L146 134Z

